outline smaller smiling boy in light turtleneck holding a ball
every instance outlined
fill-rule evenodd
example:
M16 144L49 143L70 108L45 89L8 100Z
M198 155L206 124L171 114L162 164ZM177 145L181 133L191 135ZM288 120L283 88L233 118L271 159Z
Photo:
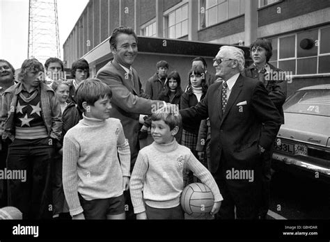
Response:
M151 134L155 142L140 150L129 184L137 219L184 219L180 206L182 170L187 168L210 187L214 194L213 216L223 200L211 173L189 148L179 145L177 134L181 116L170 107L152 114ZM143 191L143 193L142 193Z

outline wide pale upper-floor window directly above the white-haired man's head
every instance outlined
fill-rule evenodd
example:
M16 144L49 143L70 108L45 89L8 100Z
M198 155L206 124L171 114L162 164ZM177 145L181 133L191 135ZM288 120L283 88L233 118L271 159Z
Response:
M245 13L245 0L201 0L201 28Z

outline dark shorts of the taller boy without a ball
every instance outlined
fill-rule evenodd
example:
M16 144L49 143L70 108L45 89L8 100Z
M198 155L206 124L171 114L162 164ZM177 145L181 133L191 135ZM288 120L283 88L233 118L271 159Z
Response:
M107 215L125 213L124 195L105 199L84 200L78 193L81 207L84 209L86 219L107 219Z

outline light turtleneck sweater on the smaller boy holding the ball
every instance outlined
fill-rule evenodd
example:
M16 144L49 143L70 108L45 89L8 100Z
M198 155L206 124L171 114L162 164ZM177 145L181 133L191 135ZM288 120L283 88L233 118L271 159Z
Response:
M158 209L178 206L183 190L184 166L211 189L215 202L223 200L211 173L189 148L179 145L174 139L166 144L154 142L140 150L129 183L134 213L146 211L143 200L148 206Z

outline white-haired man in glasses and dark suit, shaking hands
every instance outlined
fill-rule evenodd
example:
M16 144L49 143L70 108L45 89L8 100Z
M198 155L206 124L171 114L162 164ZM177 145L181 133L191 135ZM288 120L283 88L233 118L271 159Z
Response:
M210 118L211 159L208 167L223 195L217 218L258 218L262 153L278 132L281 116L260 81L240 74L244 52L223 46L214 59L223 79L207 90L202 102L180 110L182 122ZM263 127L262 127L263 125Z

